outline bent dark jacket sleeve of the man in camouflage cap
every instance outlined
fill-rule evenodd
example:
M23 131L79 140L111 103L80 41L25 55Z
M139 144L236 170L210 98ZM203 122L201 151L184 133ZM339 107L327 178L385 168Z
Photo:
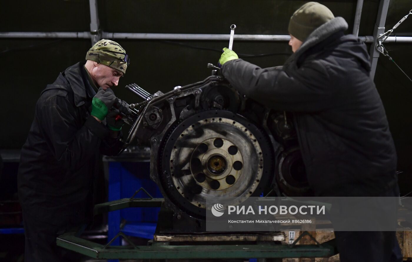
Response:
M67 97L53 96L40 108L40 126L50 152L62 167L75 171L96 154L100 154L101 141L108 129L89 116L79 129L75 107Z

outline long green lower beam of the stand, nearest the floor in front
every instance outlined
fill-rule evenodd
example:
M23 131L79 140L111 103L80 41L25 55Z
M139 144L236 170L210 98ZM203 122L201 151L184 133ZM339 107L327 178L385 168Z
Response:
M260 243L256 245L162 245L137 246L138 250L128 246L104 246L74 236L71 233L57 238L57 245L96 259L229 259L229 258L280 258L280 257L330 257L336 254L332 242L317 245L287 245ZM210 252L213 250L213 252Z

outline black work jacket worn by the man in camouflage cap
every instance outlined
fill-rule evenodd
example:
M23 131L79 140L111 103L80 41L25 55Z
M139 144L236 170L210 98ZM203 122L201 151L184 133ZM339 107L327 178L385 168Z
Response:
M90 115L91 90L84 63L77 63L42 91L18 172L26 216L53 225L90 218L101 154L120 151L109 129Z

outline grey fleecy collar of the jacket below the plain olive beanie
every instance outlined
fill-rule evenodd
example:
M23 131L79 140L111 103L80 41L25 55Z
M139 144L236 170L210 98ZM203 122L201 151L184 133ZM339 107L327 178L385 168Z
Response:
M296 66L299 57L302 56L302 54L304 54L308 49L321 43L331 35L346 29L348 29L348 23L346 23L345 19L342 17L336 17L319 26L308 36L299 49L297 49L297 51L293 53L288 60L286 60L285 66Z

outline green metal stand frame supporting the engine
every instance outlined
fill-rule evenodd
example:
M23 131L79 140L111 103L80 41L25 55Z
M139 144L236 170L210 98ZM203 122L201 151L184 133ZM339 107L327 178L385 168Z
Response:
M138 191L142 190L139 189ZM144 190L144 189L143 189ZM136 191L136 193L138 192ZM136 193L134 195L136 195ZM115 211L129 207L159 207L164 199L148 198L119 199L94 208L94 214ZM306 233L309 234L309 233ZM113 240L122 236L131 246L110 246ZM185 245L173 246L172 242L153 242L151 246L136 246L126 235L119 232L107 245L101 245L76 235L75 232L60 235L57 246L73 250L96 259L213 259L213 258L283 258L283 257L330 257L337 254L334 239L316 245L279 245L274 242L237 245ZM227 243L227 242L226 242Z

